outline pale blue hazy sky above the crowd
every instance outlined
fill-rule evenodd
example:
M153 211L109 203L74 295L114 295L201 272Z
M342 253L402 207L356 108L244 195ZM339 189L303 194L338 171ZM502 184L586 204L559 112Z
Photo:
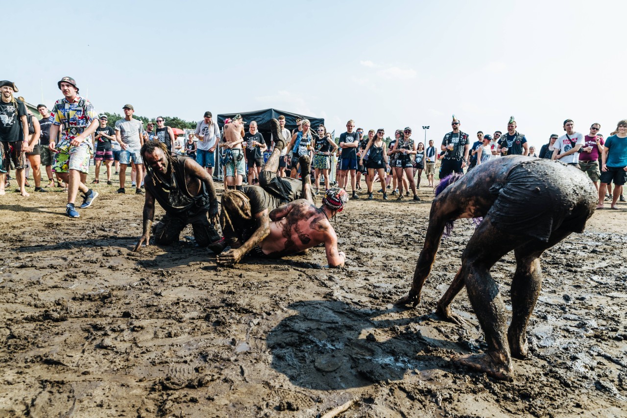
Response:
M608 134L627 117L624 1L58 4L12 5L5 33L42 43L4 59L0 78L30 103L50 106L69 75L99 112L132 103L199 120L274 107L337 133L350 118L387 134L409 125L418 139L430 125L436 143L453 113L473 138L514 115L537 147L566 118Z

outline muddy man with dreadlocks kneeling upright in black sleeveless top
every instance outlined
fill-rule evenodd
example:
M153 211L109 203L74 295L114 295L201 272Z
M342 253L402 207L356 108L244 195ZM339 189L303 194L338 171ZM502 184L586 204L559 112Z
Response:
M177 242L183 228L191 224L196 243L213 249L220 237L213 226L218 220L218 196L211 175L194 159L172 155L159 141L145 142L140 152L146 168L144 232L134 251L149 245L155 199L166 210L154 226L155 244Z

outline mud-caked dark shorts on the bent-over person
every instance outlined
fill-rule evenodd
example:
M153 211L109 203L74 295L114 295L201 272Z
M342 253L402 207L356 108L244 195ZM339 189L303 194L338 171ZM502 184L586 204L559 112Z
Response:
M510 171L487 216L508 233L549 241L557 229L581 233L598 200L594 185L581 170L551 160L531 160Z

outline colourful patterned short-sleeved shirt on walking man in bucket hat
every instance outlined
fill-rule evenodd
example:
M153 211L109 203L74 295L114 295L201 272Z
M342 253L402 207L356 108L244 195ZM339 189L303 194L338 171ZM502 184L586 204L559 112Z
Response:
M82 106L80 102L83 102ZM50 115L50 122L54 125L63 125L61 130L61 138L65 140L73 140L78 137L98 115L93 110L92 103L87 99L76 96L72 103L64 97L55 102ZM85 138L86 142L91 143L91 138Z

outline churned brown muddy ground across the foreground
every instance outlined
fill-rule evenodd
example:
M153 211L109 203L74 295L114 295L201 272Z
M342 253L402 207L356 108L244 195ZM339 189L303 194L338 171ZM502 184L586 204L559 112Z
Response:
M421 304L392 305L426 230L424 182L422 202L349 202L342 269L323 248L236 268L187 240L133 253L143 199L115 189L98 185L79 219L63 192L0 197L0 416L313 417L350 401L340 416L627 415L625 204L545 254L530 358L503 383L449 360L485 348L465 291L464 327L432 313L470 222L443 241ZM493 268L509 309L514 268L511 254Z

